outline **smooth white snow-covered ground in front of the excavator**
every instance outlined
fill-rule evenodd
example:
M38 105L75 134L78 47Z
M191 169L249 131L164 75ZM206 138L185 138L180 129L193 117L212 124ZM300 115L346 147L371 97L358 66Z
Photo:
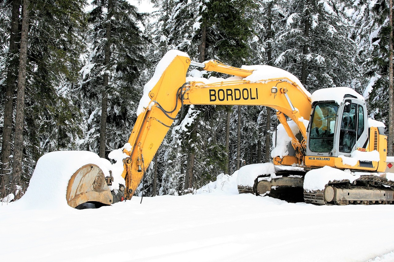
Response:
M139 201L85 210L4 203L0 261L394 261L393 205L237 194L236 174L194 195Z

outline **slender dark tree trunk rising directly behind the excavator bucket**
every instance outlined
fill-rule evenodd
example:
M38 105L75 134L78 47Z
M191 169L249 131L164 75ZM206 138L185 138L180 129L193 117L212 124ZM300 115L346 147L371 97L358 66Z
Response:
M105 37L107 39L105 45L105 54L104 54L104 68L107 70L107 65L110 63L111 56L111 15L112 13L112 0L108 0L108 14L107 14L107 28ZM101 126L100 126L100 148L99 148L99 156L102 158L106 157L105 149L106 149L106 134L107 134L107 109L108 109L108 73L105 71L103 80L102 80L103 91L101 94Z

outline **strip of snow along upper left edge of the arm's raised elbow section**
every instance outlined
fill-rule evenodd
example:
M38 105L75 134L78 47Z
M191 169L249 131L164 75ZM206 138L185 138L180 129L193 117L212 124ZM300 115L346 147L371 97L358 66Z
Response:
M149 97L149 92L151 92L153 87L160 80L160 77L162 77L164 71L175 59L175 57L177 57L177 55L189 57L188 54L181 52L179 50L169 50L167 53L165 53L164 57L157 64L151 80L149 80L148 83L144 85L143 95L141 97L141 100L139 101L139 105L137 109L137 116L142 112L144 112L145 108L149 106L149 103L151 102L151 98Z

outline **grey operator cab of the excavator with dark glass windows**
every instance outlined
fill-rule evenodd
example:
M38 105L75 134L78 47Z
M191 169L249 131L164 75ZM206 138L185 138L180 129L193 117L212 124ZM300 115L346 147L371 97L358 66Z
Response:
M350 157L356 148L366 148L368 118L363 99L344 94L339 104L338 100L314 101L312 108L307 129L308 156Z

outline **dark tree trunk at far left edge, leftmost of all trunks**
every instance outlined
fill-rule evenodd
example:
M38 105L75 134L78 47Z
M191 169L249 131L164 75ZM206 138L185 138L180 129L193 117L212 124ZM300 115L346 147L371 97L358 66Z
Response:
M4 197L4 194L8 192L6 190L9 187L9 180L11 174L11 143L12 143L12 118L13 118L13 102L14 94L16 89L17 72L16 55L18 53L18 35L19 35L19 7L20 0L14 0L12 2L11 11L11 34L9 37L9 53L13 56L7 68L7 85L6 85L6 97L4 105L4 122L3 122L3 135L2 135L2 155L1 155L1 175L0 175L0 188L4 192L0 192L0 197ZM3 191L2 190L2 191ZM7 192L6 192L7 191Z

